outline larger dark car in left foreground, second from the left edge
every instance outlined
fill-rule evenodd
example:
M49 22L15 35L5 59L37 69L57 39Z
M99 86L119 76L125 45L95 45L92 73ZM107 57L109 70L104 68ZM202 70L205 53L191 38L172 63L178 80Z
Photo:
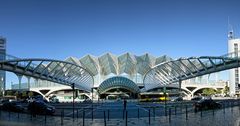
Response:
M44 101L35 100L28 104L28 110L32 114L47 114L52 115L55 112L55 107L51 106Z

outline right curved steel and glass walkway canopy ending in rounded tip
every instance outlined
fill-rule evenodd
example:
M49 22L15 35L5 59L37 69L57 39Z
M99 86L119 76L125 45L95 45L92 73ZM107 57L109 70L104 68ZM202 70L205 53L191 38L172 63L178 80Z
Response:
M152 67L144 76L145 90L181 82L214 72L240 67L236 53L224 56L179 58Z

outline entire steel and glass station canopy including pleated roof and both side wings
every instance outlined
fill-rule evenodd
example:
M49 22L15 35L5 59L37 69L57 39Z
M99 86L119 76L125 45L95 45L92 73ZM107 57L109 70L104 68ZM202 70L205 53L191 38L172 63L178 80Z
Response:
M111 88L125 88L132 92L181 82L183 80L232 69L240 66L238 53L224 56L201 56L173 60L167 56L155 58L148 53L142 56L130 53L101 57L87 55L81 59L70 57L65 61L52 59L20 59L6 55L0 61L0 70L11 71L36 79L47 80L81 90L104 93ZM180 83L181 86L181 83ZM20 89L20 88L19 88Z

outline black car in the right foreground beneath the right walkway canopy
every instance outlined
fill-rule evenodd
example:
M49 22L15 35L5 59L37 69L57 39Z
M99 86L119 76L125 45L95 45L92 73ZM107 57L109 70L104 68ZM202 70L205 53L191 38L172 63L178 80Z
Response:
M216 109L216 108L221 108L221 104L213 101L212 99L202 99L194 103L195 112L199 110Z

